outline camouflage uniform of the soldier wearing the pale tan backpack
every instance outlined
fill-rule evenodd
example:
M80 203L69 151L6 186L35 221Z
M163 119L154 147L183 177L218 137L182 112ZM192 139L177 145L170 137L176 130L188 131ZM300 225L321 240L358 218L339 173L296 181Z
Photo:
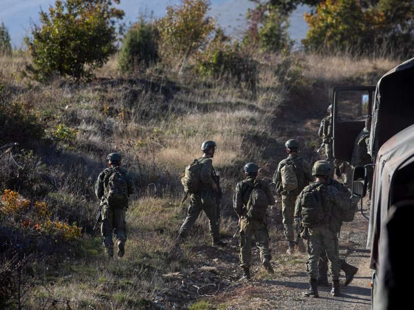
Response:
M298 189L294 191L284 191L282 186L281 169L286 165L286 162L293 161L296 166L296 175L298 178ZM283 216L283 231L286 241L293 242L293 213L295 211L296 197L301 190L313 181L310 164L303 158L297 155L289 155L283 159L273 176L273 182L276 184L276 192L282 196L282 216Z

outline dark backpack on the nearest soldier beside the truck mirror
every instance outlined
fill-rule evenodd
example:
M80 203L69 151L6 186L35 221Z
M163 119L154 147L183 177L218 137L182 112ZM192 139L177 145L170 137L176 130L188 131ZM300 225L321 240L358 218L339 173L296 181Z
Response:
M311 185L303 190L301 194L302 223L304 227L318 226L325 219L321 193L322 186L323 183Z

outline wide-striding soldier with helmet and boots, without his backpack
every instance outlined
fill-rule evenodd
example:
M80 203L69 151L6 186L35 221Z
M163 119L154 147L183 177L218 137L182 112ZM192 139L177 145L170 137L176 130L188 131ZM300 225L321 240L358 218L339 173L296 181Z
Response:
M196 161L202 165L200 172L201 189L198 193L189 194L188 212L183 224L181 225L177 242L181 243L188 235L188 230L193 227L198 215L204 211L208 217L210 234L213 246L225 245L220 240L218 222L216 218L216 198L219 188L214 181L216 173L213 168L212 158L216 149L216 142L212 140L204 141L201 151L204 155Z

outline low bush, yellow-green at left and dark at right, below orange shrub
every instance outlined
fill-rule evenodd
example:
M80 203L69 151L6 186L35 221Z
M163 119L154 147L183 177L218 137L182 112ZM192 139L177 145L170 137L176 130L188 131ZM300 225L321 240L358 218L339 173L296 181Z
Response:
M223 39L218 33L207 48L196 58L195 69L202 76L229 77L248 88L256 86L257 63L244 52L239 43L234 44Z

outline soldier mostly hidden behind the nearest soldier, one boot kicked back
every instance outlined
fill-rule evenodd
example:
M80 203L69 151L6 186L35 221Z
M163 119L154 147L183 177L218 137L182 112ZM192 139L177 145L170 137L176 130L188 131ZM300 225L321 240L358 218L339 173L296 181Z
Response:
M328 161L320 160L320 162L325 162L329 164ZM351 193L349 190L340 182L333 179L333 172L329 175L328 184L334 186L341 194L344 196L350 196ZM356 204L356 201L354 202ZM339 223L339 227L342 223ZM339 234L339 231L337 232ZM355 274L358 272L358 268L348 264L344 259L339 259L339 266L342 271L345 272L345 285L349 285L354 279ZM318 285L319 286L328 286L328 258L326 257L326 252L322 251L320 253L320 259L318 263Z

